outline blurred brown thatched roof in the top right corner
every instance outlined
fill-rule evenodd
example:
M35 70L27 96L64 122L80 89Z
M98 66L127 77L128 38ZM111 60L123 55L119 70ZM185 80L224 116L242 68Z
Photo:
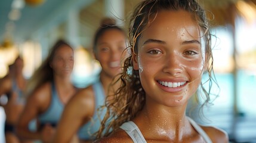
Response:
M251 22L256 18L256 0L199 0L212 26L234 24L237 16Z

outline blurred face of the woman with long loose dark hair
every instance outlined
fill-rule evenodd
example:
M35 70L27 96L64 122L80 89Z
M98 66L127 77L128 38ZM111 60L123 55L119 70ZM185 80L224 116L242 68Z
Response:
M55 74L61 77L70 76L73 71L73 50L67 45L61 45L54 53L51 67Z

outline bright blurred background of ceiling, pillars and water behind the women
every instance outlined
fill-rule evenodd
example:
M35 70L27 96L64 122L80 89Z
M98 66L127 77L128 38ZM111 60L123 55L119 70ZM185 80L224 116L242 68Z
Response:
M17 55L29 79L61 38L75 48L72 81L82 88L97 79L101 67L92 54L92 38L101 18L116 18L127 30L129 14L140 0L3 0L0 5L0 78ZM214 72L218 94L205 116L229 133L230 142L256 142L256 1L199 0L211 19ZM214 14L214 16L212 15ZM1 87L0 87L1 88ZM5 114L0 108L0 142Z

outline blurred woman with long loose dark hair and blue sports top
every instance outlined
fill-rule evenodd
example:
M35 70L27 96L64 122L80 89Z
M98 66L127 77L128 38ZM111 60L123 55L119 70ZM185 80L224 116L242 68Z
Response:
M70 82L73 59L72 47L60 40L35 71L27 85L28 98L17 126L19 136L51 142L64 105L77 91ZM27 128L33 119L38 120L36 132Z

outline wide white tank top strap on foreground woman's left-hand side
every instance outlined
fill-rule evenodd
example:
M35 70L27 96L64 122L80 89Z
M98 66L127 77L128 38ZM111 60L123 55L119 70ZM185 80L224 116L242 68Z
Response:
M135 125L134 122L129 121L123 123L120 126L120 128L125 130L125 132L131 137L134 143L146 143L146 139L144 138L144 136L140 132L140 129L138 129L138 126Z

